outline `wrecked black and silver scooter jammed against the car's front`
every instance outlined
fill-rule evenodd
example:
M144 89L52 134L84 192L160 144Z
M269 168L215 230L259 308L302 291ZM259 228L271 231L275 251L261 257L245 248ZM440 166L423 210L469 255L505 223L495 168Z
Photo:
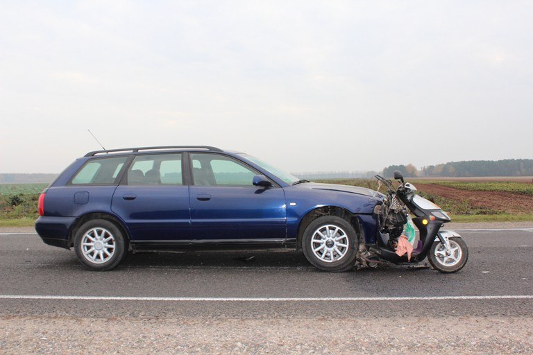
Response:
M441 207L416 194L413 184L405 183L400 171L394 172L394 179L400 180L397 189L391 180L376 175L380 185L387 188L382 205L376 205L374 214L378 220L378 237L375 243L361 243L357 254L358 266L377 267L380 263L416 266L426 257L431 266L440 272L461 270L468 260L468 247L462 237L450 230L441 230L451 218ZM411 219L411 215L414 218ZM412 220L412 221L411 221ZM412 246L412 253L399 255L400 238L416 225L419 240ZM414 233L414 230L413 230ZM414 234L413 234L414 239ZM403 241L405 245L405 241Z

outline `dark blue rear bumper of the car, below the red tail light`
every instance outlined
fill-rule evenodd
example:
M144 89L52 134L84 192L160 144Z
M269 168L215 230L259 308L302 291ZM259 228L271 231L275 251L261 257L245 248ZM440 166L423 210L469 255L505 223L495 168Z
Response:
M69 235L76 217L41 216L35 221L35 230L48 245L69 248Z

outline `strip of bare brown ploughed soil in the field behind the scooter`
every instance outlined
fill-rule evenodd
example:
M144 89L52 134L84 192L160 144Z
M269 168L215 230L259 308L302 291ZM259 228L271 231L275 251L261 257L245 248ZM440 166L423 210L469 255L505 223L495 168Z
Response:
M487 207L507 213L532 214L533 196L501 191L469 191L433 184L416 184L420 191L457 201L468 201L474 207Z

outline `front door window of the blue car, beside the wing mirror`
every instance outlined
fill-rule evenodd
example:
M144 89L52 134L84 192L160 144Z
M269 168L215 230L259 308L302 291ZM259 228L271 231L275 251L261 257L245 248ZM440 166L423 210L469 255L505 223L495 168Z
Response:
M199 186L253 186L257 174L242 162L219 154L191 154L192 177Z

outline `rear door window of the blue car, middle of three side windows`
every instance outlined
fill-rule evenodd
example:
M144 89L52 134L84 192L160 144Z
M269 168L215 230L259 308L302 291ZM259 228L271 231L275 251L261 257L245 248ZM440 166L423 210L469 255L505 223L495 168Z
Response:
M181 153L137 155L128 168L128 185L183 185Z

